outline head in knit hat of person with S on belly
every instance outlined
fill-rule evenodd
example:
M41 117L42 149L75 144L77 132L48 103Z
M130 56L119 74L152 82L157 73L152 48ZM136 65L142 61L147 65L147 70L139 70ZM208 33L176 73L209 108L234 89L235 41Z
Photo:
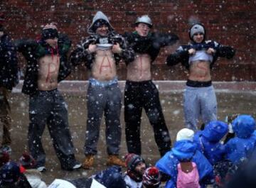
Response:
M189 29L189 38L195 43L206 40L206 28L201 23L196 23Z

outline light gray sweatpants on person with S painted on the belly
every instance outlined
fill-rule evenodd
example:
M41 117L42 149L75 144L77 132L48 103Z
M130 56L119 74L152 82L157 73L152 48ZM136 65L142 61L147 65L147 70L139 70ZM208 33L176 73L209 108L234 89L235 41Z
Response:
M186 86L183 94L183 104L187 128L197 130L200 118L205 124L217 120L217 100L213 86Z

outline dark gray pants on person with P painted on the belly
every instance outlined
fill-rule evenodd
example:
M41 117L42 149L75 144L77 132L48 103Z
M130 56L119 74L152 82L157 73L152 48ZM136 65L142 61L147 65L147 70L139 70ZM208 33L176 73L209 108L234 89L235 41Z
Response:
M75 165L75 148L68 128L67 105L57 89L38 92L29 98L28 148L37 167L45 165L42 135L48 126L53 147L63 168Z

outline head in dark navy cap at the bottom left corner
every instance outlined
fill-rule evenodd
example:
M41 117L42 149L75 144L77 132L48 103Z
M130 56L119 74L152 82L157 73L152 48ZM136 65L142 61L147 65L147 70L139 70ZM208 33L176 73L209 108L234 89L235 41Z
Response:
M0 182L2 185L14 184L21 176L20 167L16 162L7 162L0 169Z

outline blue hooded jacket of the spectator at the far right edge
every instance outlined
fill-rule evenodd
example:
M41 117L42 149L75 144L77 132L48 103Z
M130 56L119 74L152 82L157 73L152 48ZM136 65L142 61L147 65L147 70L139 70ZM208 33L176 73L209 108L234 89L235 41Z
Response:
M226 158L239 165L252 154L255 148L255 120L249 115L240 115L232 123L235 138L225 144Z

